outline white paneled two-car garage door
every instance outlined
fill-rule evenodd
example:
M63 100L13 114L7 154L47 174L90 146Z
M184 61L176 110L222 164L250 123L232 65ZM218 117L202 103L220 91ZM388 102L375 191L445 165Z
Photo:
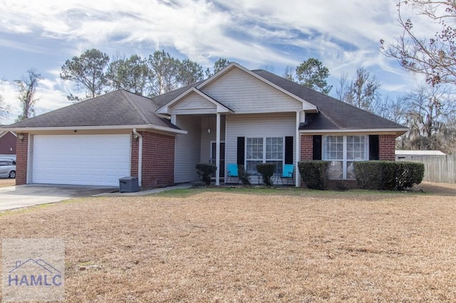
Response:
M36 135L33 183L118 186L130 176L129 134Z

